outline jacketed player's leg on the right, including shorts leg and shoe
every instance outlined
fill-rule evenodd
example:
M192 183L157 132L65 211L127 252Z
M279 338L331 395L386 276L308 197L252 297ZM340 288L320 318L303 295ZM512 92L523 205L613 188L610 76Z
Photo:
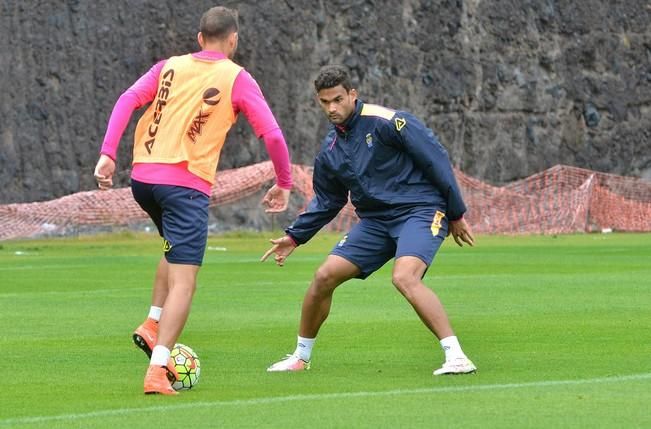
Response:
M443 213L432 209L416 210L406 216L396 231L398 243L392 282L440 341L445 363L434 374L475 372L477 368L462 351L441 300L422 281L447 235Z

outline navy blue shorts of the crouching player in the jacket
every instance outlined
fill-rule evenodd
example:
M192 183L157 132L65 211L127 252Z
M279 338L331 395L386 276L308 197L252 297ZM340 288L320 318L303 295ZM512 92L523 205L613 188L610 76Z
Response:
M416 256L429 267L447 234L442 211L413 207L395 217L360 219L330 254L355 264L365 279L394 257Z

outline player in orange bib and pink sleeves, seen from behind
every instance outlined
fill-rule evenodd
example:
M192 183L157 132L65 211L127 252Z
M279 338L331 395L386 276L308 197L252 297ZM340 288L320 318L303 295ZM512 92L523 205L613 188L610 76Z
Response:
M155 64L118 99L95 167L100 189L113 185L120 138L133 112L149 104L136 127L131 189L163 237L147 319L133 339L149 357L144 392L174 395L170 362L187 320L208 235L208 202L226 134L243 113L264 141L276 173L263 198L268 213L287 209L292 187L283 134L253 77L232 61L237 12L213 7L201 17L201 51Z

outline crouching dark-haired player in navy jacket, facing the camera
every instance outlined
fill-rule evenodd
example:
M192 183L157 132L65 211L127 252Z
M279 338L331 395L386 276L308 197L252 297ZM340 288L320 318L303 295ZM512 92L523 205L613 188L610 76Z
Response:
M273 247L262 260L273 253L282 266L294 248L339 213L349 195L360 221L314 275L303 300L296 350L267 370L309 369L314 341L337 286L351 278L364 279L395 258L393 284L445 352L445 362L434 375L475 372L441 301L422 282L447 235L459 246L474 244L446 150L410 113L359 100L341 66L324 67L314 86L331 122L314 164L315 195L286 235L271 240Z

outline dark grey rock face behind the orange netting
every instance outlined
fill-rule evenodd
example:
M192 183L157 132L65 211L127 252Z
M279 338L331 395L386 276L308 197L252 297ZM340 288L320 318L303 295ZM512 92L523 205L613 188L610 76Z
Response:
M258 80L292 160L327 125L312 81L347 65L367 102L406 109L464 172L501 184L554 164L651 179L646 0L226 1L236 61ZM0 4L0 202L95 187L117 97L156 61L196 50L208 1ZM137 112L119 154L129 177ZM240 119L221 169L267 159Z

